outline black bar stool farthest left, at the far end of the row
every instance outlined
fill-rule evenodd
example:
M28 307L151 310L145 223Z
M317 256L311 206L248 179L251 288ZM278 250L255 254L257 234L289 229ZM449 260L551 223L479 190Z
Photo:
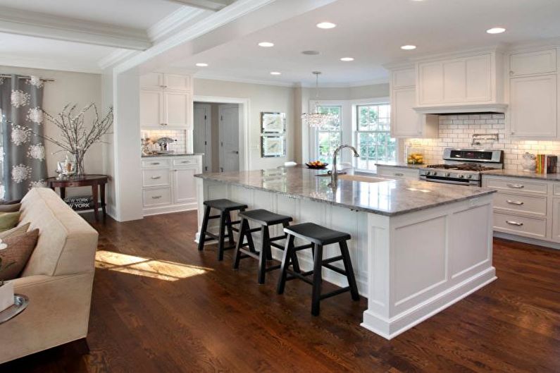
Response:
M219 215L210 215L211 209L217 209ZM233 231L239 231L234 227L235 224L239 224L239 221L231 221L230 212L232 211L245 211L247 209L247 204L237 203L230 200L208 200L204 201L204 219L202 219L202 226L200 229L199 238L199 251L204 249L204 241L206 236L218 240L218 260L223 260L223 252L225 250L230 250L235 248L233 242ZM220 219L220 231L218 236L207 231L208 221L211 219ZM230 246L224 247L223 241L225 240L225 228L228 228L228 241Z

